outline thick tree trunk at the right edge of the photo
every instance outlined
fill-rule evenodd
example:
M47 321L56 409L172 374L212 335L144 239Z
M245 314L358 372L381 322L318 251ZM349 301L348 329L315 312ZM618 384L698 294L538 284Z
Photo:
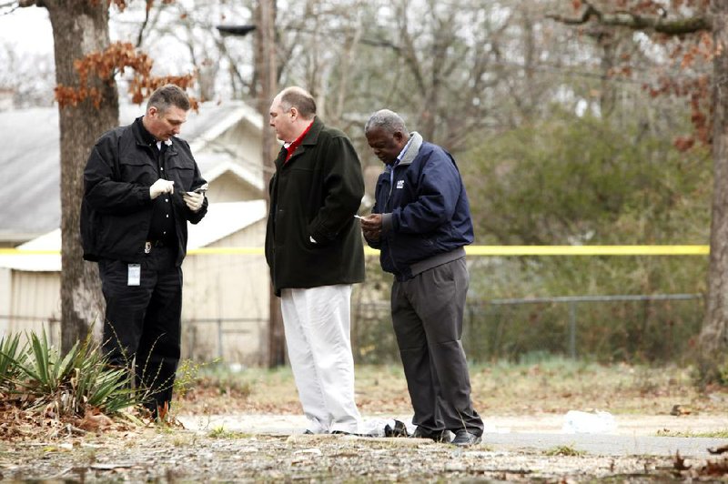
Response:
M728 348L728 3L713 0L713 223L708 307L700 335L703 379L711 380Z

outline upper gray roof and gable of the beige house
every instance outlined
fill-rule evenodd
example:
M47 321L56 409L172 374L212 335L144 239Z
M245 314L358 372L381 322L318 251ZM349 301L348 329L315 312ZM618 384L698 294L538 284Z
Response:
M126 125L143 114L143 106L126 105L119 117ZM203 104L197 113L189 113L181 137L190 143L200 170L208 178L234 179L234 193L217 184L220 201L239 198L237 189L246 192L244 199L263 197L262 123L255 109L239 101ZM0 112L0 146L0 174L5 180L0 190L0 247L15 247L60 227L56 106Z

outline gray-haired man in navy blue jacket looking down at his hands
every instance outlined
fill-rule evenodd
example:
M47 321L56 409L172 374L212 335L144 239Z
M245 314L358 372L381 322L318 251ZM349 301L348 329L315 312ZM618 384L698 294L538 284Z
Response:
M455 160L440 146L408 133L383 109L365 126L369 147L384 162L364 237L394 274L392 324L417 425L414 437L470 446L483 423L470 401L470 376L460 342L473 240L470 206Z

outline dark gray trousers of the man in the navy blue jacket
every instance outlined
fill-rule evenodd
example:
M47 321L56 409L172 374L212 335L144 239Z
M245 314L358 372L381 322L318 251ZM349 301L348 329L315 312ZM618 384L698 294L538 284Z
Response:
M395 280L392 324L415 411L412 423L433 432L467 429L480 436L483 422L472 408L460 342L468 282L465 258Z

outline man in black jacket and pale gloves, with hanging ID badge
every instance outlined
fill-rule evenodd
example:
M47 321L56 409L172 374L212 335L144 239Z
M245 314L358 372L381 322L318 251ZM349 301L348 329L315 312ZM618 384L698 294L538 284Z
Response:
M158 88L145 116L96 141L84 171L81 236L106 299L103 348L110 364L134 365L155 418L167 413L179 361L187 220L207 213L207 183L177 138L189 108L178 86Z

